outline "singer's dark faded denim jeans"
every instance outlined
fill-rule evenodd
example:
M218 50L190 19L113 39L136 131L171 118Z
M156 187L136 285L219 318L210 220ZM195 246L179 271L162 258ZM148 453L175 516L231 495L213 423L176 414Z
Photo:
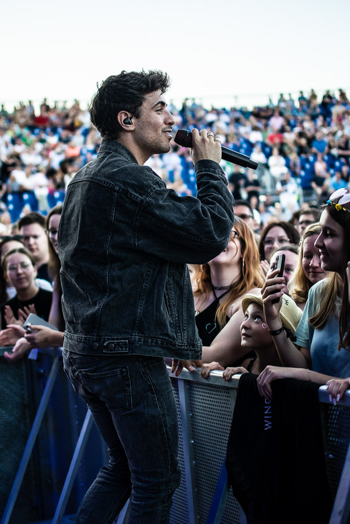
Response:
M129 496L129 524L167 524L180 471L176 405L164 359L64 350L63 365L110 456L76 524L112 524Z

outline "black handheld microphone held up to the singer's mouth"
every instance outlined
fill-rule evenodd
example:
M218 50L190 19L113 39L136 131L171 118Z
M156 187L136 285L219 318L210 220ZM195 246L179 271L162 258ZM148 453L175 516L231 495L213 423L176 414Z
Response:
M202 129L200 131L200 133L202 133L202 132L206 133L206 130ZM210 133L211 132L209 132L207 134L207 136L209 136ZM178 129L177 132L176 132L176 135L174 137L174 141L179 146L193 147L192 146L192 144L193 144L194 147L197 148L197 141L198 141L199 135L200 134L198 133L198 129L193 129L192 133L190 131L186 130L186 129ZM203 135L204 135L204 133L203 133ZM214 133L211 133L211 135L213 135L213 138L211 138L210 141L215 141ZM202 136L202 135L200 135L200 136ZM196 138L194 139L194 137L196 137ZM216 144L220 145L220 142L217 141ZM216 149L218 149L218 147L219 147L218 145L216 145ZM204 151L203 151L203 153L204 153ZM224 147L224 146L221 146L220 159L219 160L215 160L215 161L216 162L220 162L221 158L223 160L227 160L228 162L235 163L235 164L237 164L238 166L241 166L241 167L249 167L250 169L257 169L257 167L259 165L258 162L254 162L253 160L250 160L250 157L248 157L247 155L242 155L238 151L233 151L232 149L229 149L228 147ZM193 154L192 154L192 159L195 162ZM197 158L196 161L204 160L204 159L214 160L214 158L211 158L211 157L209 158L208 156L206 156L206 157Z

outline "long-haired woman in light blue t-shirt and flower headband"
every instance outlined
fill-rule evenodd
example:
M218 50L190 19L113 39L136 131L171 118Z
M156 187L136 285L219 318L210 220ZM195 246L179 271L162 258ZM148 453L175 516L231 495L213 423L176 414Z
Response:
M271 398L271 381L278 378L312 380L328 385L330 397L339 400L350 387L349 274L350 194L335 191L327 200L320 218L321 233L315 246L321 267L331 274L309 291L302 319L295 332L295 344L283 329L279 310L282 278L272 271L262 288L268 329L285 368L268 366L258 378L261 395ZM340 379L339 379L340 378Z

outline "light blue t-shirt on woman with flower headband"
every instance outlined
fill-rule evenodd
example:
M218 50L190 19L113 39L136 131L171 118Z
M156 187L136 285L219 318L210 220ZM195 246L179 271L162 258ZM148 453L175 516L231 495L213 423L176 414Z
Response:
M330 375L332 377L350 377L350 346L338 351L339 343L339 313L341 307L340 298L336 298L334 310L328 315L326 323L322 328L313 328L308 322L320 309L320 297L326 280L317 282L309 291L303 316L296 328L295 344L301 347L309 347L311 352L312 369L317 373Z

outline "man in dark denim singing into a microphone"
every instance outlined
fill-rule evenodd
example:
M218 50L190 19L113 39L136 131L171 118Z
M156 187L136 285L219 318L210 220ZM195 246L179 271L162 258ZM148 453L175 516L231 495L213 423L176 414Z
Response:
M186 263L227 246L234 214L220 142L192 132L197 198L178 196L144 162L171 149L168 75L105 80L90 105L103 138L69 184L59 228L65 370L108 445L77 524L166 524L179 485L173 372L200 365Z

